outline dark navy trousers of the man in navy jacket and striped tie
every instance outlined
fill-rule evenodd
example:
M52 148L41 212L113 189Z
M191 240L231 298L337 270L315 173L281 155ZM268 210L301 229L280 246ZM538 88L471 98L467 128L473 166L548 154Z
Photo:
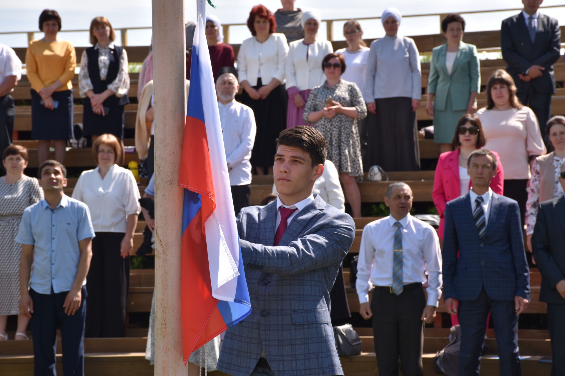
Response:
M518 351L518 315L514 300L490 299L483 290L470 302L459 300L457 318L461 326L461 352L459 353L459 376L479 376L481 351L485 342L486 316L494 325L501 376L520 376L520 354Z

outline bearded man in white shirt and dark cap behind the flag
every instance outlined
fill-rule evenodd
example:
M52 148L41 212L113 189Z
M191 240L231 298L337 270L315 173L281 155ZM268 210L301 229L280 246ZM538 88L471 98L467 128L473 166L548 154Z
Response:
M235 100L240 85L237 69L222 67L216 78L218 110L224 138L225 160L228 162L229 185L232 188L236 216L242 207L249 206L251 194L251 150L255 143L253 110Z

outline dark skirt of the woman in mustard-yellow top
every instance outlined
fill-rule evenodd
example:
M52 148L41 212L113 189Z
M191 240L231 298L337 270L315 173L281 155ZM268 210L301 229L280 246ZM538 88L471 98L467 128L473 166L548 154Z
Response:
M51 94L59 105L55 109L47 109L40 104L41 96L31 89L32 93L32 139L34 140L69 140L72 139L73 101L72 89L55 91Z

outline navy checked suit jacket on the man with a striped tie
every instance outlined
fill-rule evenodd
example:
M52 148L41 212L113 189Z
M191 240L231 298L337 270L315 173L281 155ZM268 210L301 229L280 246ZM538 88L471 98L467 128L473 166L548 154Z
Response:
M458 257L459 251L459 257ZM529 269L518 202L493 193L484 239L473 219L470 194L447 202L443 247L444 298L529 300Z

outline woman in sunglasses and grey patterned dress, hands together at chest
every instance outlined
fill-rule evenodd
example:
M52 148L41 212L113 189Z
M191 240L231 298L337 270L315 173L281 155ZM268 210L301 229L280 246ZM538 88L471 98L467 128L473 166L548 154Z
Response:
M357 122L367 116L367 107L357 85L341 78L346 68L344 55L326 55L321 68L325 82L310 93L303 120L324 135L327 158L340 173L351 215L360 217L361 193L357 182L363 181L363 162Z

